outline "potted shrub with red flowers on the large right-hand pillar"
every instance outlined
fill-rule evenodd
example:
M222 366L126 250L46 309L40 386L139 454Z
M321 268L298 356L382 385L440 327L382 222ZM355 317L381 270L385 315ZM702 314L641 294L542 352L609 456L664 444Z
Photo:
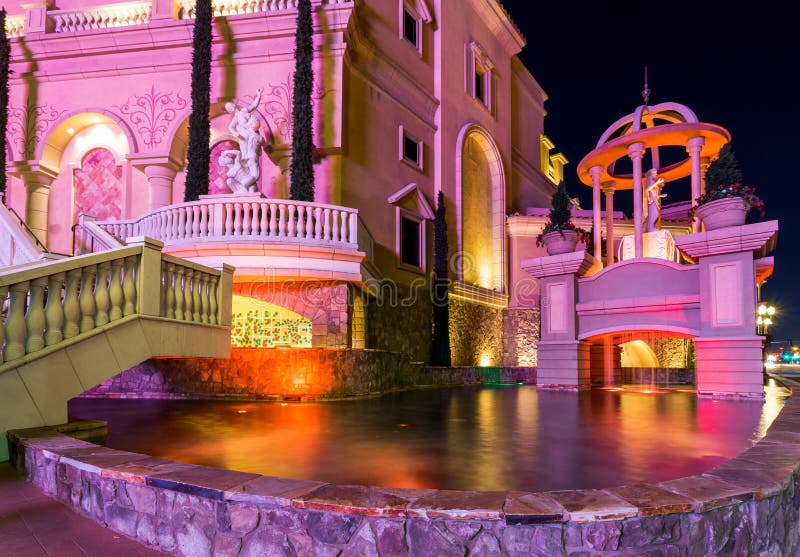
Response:
M706 230L728 226L741 226L750 209L764 216L764 202L755 194L755 188L742 183L742 172L726 143L719 156L706 171L706 193L695 199L689 218L699 218Z

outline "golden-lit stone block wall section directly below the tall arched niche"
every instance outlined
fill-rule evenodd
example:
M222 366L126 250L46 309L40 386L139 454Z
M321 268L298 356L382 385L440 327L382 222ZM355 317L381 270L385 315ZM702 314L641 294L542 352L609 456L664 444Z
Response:
M450 353L454 366L502 365L503 310L451 297Z

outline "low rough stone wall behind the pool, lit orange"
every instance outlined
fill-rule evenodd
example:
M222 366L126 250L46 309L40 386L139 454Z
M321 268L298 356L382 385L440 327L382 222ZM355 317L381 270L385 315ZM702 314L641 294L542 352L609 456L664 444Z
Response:
M430 368L383 350L233 348L230 359L154 359L90 389L103 398L322 399L431 385L536 382L535 368Z

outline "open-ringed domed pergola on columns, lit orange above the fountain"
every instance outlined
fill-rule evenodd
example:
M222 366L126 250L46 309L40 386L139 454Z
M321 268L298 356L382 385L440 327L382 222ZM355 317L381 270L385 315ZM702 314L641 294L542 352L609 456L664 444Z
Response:
M645 95L646 97L646 95ZM591 186L593 229L600 230L600 191L606 196L606 257L607 264L614 261L614 192L633 190L634 250L635 257L643 253L643 172L642 159L649 149L653 168L664 183L691 176L692 199L705 190L705 168L730 141L728 130L716 124L700 122L687 106L665 102L654 106L640 105L623 116L603 133L597 146L578 165L578 178ZM659 148L684 147L688 156L665 167L660 166ZM617 162L629 157L633 165L631 174L615 170ZM694 230L697 231L697 224ZM601 235L594 234L594 253L602 252Z

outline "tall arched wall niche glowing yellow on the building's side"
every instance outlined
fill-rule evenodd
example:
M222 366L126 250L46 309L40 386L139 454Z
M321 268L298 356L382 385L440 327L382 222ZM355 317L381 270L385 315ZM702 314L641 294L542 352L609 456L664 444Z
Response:
M499 292L505 290L505 190L497 143L484 128L465 126L456 152L459 279Z

